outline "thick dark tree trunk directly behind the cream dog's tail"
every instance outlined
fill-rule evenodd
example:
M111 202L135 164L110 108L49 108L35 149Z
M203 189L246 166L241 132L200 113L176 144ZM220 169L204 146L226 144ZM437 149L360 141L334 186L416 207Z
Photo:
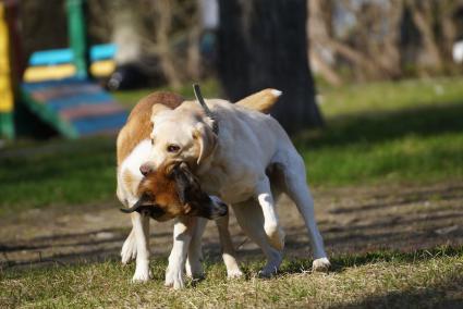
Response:
M305 0L220 0L219 77L231 100L277 88L289 132L322 125L307 62Z

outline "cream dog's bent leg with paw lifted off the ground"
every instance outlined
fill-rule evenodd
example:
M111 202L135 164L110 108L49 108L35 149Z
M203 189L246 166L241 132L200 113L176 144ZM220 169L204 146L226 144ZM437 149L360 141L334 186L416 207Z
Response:
M256 186L257 200L264 213L264 230L270 242L277 250L282 250L284 247L284 233L280 228L278 213L271 194L270 181L264 176Z

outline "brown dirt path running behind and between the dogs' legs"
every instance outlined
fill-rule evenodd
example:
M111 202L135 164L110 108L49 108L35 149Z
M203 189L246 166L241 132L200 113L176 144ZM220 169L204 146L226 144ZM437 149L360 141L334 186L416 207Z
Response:
M378 248L412 250L463 244L463 183L411 187L362 187L314 190L317 222L330 254ZM130 220L117 202L32 210L0 219L0 267L29 267L119 258ZM92 210L92 214L90 214ZM296 208L279 202L287 233L287 257L308 257L308 238ZM205 254L219 259L214 224L204 237ZM231 220L239 257L260 250ZM151 223L155 257L171 248L172 223Z

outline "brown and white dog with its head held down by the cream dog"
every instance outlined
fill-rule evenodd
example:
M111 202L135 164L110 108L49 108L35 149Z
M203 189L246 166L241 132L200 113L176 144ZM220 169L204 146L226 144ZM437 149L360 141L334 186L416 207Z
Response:
M127 207L124 212L131 213L133 223L121 256L123 263L136 257L133 281L149 279L149 218L166 221L195 215L216 219L227 214L227 206L202 191L185 164L169 163L146 177L139 171L150 147L153 107L173 109L182 101L180 96L170 92L149 95L132 110L118 136L117 195Z

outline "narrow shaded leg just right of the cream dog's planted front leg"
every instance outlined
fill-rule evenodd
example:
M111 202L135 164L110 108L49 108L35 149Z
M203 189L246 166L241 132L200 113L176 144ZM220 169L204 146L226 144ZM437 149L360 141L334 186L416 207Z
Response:
M186 275L192 279L204 277L204 270L200 261L203 259L202 238L206 224L206 219L197 218L196 226L193 228L192 240L188 247L188 258L185 264Z

